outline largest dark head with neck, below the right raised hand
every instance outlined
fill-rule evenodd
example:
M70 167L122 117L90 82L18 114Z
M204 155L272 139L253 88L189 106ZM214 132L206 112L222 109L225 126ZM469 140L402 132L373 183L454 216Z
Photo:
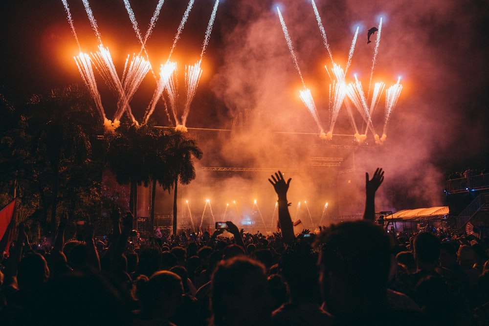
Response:
M391 266L390 240L364 220L326 228L316 240L320 283L328 311L345 311L349 302L385 300ZM341 298L342 300L337 300Z

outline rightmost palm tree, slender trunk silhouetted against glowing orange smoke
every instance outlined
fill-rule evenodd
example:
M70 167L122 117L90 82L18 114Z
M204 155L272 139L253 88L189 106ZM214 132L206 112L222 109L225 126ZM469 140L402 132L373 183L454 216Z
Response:
M202 151L197 146L195 139L186 138L179 131L170 133L170 144L166 151L167 162L169 162L170 171L174 186L173 196L173 234L177 235L177 190L178 182L189 184L195 179L195 167L192 157L202 158Z

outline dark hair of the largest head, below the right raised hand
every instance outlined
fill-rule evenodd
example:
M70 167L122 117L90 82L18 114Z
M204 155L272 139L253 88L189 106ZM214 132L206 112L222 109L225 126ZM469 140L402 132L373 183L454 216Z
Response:
M316 239L325 273L365 293L385 293L391 264L390 239L378 225L357 220L331 225Z

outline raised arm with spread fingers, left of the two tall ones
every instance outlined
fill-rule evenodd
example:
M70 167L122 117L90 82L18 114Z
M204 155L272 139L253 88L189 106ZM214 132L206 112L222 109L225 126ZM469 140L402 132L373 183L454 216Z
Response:
M292 178L289 178L285 182L284 175L280 171L276 172L275 175L271 175L271 179L268 179L278 196L278 223L282 230L282 239L285 242L295 239L294 226L289 213L289 202L287 201L287 191L291 180Z

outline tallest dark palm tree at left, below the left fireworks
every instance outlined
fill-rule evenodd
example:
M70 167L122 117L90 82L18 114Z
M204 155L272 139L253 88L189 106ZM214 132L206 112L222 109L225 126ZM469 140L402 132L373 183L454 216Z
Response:
M74 170L91 163L91 138L96 133L93 108L77 87L53 89L45 98L34 96L27 107L32 172L39 186L46 224L51 208L51 231L56 226L60 191Z

